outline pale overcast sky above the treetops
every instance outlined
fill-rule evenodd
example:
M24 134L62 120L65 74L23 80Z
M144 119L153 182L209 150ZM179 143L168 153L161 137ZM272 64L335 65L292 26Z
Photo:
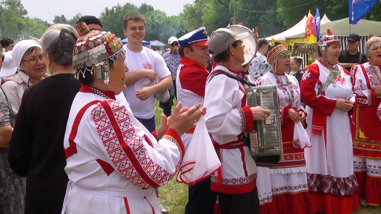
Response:
M142 3L152 5L155 10L162 10L168 16L180 13L187 3L193 3L193 0L21 0L22 5L28 11L27 16L40 18L43 21L53 23L55 15L65 17L70 20L78 12L83 15L93 15L99 17L104 8L111 9L112 6L124 5L130 2L136 6Z

